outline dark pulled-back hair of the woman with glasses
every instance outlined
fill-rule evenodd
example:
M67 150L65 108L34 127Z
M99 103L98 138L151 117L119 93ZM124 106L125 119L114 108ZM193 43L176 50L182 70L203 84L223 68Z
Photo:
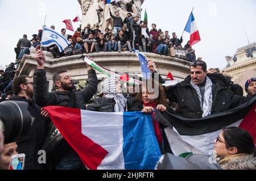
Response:
M255 154L255 144L251 134L238 127L224 128L223 137L226 142L226 148L237 148L237 154Z

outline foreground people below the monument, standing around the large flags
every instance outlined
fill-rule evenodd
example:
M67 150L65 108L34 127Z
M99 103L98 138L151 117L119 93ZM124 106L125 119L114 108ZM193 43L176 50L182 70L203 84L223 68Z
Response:
M49 119L49 113L42 109L45 106L64 106L98 112L152 113L156 109L160 112L176 113L185 118L199 119L230 110L248 102L256 95L256 78L246 82L245 90L248 95L245 97L241 95L241 91L234 88L235 85L227 85L230 80L228 81L224 75L216 73L216 70L210 70L208 73L207 64L201 60L193 61L190 66L191 75L175 87L169 87L170 89L163 87L163 79L156 72L154 62L149 60L151 79L145 80L139 86L139 91L135 91L134 86L127 85L126 94L124 91L126 83L121 82L119 77L112 76L101 83L101 96L94 96L98 86L97 74L87 65L88 85L82 90L76 90L73 79L67 71L57 71L52 78L56 91L48 92L46 69L44 69L46 57L39 46L36 47L36 52L38 67L34 72L33 80L27 75L16 77L12 86L14 94L10 98L10 100L27 102L28 110L36 121L32 124L28 137L6 144L3 151L0 150L1 169L8 169L11 155L16 153L26 154L25 169L86 169L76 151L68 145L61 134L55 134L58 136L57 140L51 140L54 138L51 131L55 132L56 129ZM161 124L152 121L162 154L172 153L170 145L164 141L166 136ZM47 152L47 164L38 163L38 151L42 149ZM222 169L256 169L253 137L241 128L223 129L212 143L212 149L216 151ZM7 150L13 151L7 154ZM237 162L246 162L246 164L234 167L233 163Z

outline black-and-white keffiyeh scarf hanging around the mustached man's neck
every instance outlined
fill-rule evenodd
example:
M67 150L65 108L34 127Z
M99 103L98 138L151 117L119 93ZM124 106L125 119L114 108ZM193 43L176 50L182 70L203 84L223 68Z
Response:
M205 92L204 92L204 102L202 102L202 95L200 91L200 87L195 85L191 80L191 86L196 90L197 95L200 100L201 110L203 111L202 117L209 116L212 111L212 81L210 81L209 77L206 77L207 81L205 83Z

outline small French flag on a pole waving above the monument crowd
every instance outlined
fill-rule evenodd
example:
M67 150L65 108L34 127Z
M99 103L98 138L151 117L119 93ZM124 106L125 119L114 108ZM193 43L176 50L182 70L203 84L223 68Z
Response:
M197 26L196 26L196 20L195 20L195 17L193 15L193 11L191 12L191 14L188 18L188 22L187 22L187 25L186 25L184 31L187 31L188 33L190 33L190 45L191 46L195 45L196 43L201 41L199 31L198 31Z

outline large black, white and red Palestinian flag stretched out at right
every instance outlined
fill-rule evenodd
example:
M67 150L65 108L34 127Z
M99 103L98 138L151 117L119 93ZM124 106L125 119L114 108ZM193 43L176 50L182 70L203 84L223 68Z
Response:
M213 154L214 140L225 127L240 127L248 131L256 143L256 96L232 110L201 119L185 119L179 115L159 111L155 120L165 125L168 142L175 155L184 153Z

